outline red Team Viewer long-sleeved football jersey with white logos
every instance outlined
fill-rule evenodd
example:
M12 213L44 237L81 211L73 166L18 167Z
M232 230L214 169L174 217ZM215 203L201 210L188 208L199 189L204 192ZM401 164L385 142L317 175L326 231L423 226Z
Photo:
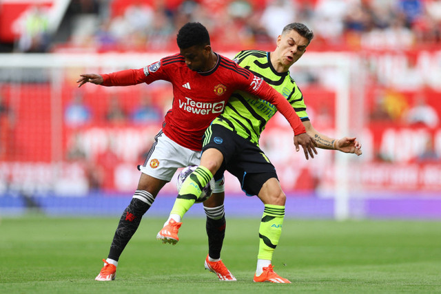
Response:
M202 149L205 129L223 112L229 96L236 90L249 92L276 105L296 134L305 132L300 118L281 94L231 59L216 55L218 61L208 72L190 70L184 57L176 54L139 70L103 74L102 85L150 84L157 80L172 83L173 105L165 115L163 132L179 145L196 151Z

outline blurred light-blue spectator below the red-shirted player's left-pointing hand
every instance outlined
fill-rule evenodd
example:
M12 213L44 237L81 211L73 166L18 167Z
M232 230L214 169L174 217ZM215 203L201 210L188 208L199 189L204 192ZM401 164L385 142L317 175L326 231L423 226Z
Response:
M81 127L89 123L92 118L89 107L83 104L82 92L75 91L72 102L68 104L64 112L65 124L69 127Z

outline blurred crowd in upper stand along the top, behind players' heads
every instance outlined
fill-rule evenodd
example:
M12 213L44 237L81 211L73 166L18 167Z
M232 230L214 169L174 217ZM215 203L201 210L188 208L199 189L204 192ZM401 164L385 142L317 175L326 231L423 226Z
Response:
M72 0L67 17L66 41L42 50L175 50L176 32L187 21L203 23L217 50L271 49L294 21L314 31L311 46L318 50L407 50L441 42L441 0ZM39 30L42 23L36 22Z

